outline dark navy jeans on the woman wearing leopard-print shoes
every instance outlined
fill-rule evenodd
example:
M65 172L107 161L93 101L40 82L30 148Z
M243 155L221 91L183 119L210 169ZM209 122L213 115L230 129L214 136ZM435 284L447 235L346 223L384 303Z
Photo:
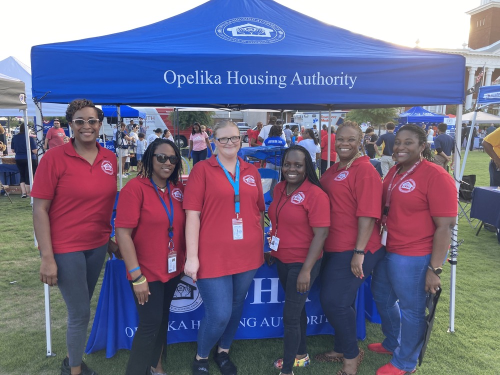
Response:
M319 299L326 318L335 329L333 350L343 353L347 359L355 358L359 354L354 305L357 289L384 254L385 247L382 246L374 253L367 252L364 255L364 278L360 279L350 270L352 250L323 253Z

